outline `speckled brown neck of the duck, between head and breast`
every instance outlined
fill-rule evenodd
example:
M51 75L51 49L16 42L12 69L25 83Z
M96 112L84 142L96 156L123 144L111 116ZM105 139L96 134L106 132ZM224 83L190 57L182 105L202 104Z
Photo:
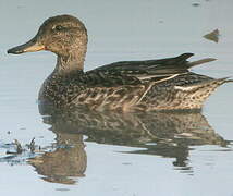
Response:
M53 73L56 74L69 74L75 71L82 71L84 69L84 60L86 56L85 50L75 50L69 56L59 56L57 58L57 64Z

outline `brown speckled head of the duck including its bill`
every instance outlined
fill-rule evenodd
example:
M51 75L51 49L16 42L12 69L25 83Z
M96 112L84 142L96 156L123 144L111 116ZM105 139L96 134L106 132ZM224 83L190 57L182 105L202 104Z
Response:
M46 20L33 39L9 49L8 53L20 54L49 50L60 57L81 56L79 58L84 58L86 45L87 32L84 24L74 16L58 15Z

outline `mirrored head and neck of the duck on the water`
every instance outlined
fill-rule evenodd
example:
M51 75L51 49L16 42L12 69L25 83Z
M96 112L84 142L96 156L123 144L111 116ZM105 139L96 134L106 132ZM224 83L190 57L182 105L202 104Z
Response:
M87 158L84 150L83 135L58 133L56 150L36 156L28 162L36 168L44 180L62 184L74 184L72 177L84 176Z

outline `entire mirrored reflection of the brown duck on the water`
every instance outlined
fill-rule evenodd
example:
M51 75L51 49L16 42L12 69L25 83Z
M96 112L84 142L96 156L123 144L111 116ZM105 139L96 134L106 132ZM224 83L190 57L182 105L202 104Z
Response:
M87 167L85 142L138 147L131 154L175 158L173 164L191 170L192 146L229 142L218 135L200 112L112 113L75 110L42 117L57 135L54 151L30 159L46 181L73 184L72 176L84 176ZM62 147L63 146L63 147Z

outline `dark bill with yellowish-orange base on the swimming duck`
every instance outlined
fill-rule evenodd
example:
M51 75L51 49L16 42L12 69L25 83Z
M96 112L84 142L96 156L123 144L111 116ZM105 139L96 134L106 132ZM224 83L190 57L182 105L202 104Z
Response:
M40 50L45 50L45 46L38 42L35 38L33 38L32 40L24 45L9 49L8 53L20 54L24 52L35 52Z

